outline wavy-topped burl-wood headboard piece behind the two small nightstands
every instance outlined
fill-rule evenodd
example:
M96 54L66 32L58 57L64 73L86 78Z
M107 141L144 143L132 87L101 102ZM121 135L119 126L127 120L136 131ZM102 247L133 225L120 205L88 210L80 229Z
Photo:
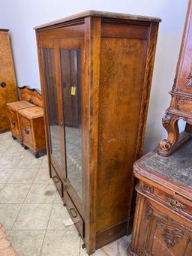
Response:
M29 86L18 87L20 92L20 101L28 101L38 107L43 107L42 95L40 90L31 89Z

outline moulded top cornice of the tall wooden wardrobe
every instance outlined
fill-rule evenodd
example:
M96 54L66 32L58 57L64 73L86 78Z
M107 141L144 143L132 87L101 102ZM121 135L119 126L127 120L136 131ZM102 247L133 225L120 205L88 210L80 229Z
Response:
M149 21L154 23L160 23L160 18L157 17L148 17L148 16L141 16L141 15L132 15L132 14L121 14L121 13L112 13L107 11L95 11L95 10L89 10L84 11L80 14L74 14L70 17L65 17L60 20L52 21L51 23L46 23L40 26L35 26L34 29L42 29L48 26L58 25L60 23L65 23L71 20L77 20L80 18L85 17L103 17L103 18L112 18L112 19L120 19L120 20L139 20L139 21Z

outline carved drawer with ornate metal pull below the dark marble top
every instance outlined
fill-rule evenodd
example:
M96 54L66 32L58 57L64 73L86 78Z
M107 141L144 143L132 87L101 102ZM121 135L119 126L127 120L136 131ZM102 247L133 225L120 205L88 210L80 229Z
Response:
M165 192L145 182L142 183L141 187L145 194L148 194L150 197L154 197L155 200L169 206L169 208L175 212L181 212L182 215L192 219L191 200L182 197L180 194L177 194L174 191L167 190L167 192Z

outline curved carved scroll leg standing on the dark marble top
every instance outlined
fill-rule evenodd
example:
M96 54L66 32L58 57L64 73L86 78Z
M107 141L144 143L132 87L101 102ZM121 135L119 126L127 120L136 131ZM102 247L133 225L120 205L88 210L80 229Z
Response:
M163 116L162 123L163 127L168 133L167 140L160 140L158 154L162 156L169 155L169 150L172 149L172 146L178 141L179 130L178 130L178 116L172 116L169 113L166 113ZM166 154L167 152L167 154Z

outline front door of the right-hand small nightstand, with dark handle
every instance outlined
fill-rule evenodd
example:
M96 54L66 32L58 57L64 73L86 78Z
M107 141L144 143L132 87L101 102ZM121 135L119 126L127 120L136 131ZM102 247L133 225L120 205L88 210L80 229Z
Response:
M23 143L28 147L33 147L31 121L20 115L20 125L23 136Z

